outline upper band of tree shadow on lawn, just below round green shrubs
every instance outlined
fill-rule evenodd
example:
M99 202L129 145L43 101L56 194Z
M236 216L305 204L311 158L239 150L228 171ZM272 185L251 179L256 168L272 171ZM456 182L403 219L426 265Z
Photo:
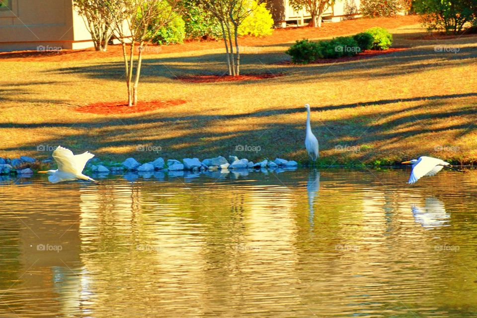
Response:
M476 47L461 48L459 53L435 52L434 47L412 48L362 60L329 64L277 65L286 56L282 53L244 54L242 74L283 73L291 75L278 80L280 83L312 80L363 79L394 77L398 75L443 70L448 67L474 64ZM141 71L143 82L163 82L187 75L220 75L226 71L224 54L204 54L194 57L145 58ZM200 65L207 67L200 67ZM199 67L198 67L199 66ZM93 79L124 80L122 62L95 62L91 66L59 68L48 73L80 75ZM217 82L215 85L243 85L256 81Z

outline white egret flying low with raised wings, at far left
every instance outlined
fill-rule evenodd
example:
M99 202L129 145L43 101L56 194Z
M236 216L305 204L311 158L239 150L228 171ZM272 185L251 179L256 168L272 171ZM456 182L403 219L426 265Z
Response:
M93 157L94 155L89 152L85 152L81 155L73 155L71 150L58 146L53 152L53 159L55 159L58 169L38 171L38 173L48 173L48 181L52 183L79 179L101 184L87 175L82 174L86 162Z

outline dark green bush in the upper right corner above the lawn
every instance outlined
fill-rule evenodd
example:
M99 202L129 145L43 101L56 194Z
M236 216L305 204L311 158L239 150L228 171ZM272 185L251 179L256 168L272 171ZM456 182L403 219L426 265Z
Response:
M459 33L466 23L476 24L476 0L415 0L414 10L421 14L421 23L429 31Z

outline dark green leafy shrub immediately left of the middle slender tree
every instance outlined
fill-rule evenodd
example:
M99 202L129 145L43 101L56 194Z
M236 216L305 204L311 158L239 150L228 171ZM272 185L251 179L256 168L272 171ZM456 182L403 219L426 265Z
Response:
M210 13L201 0L182 0L182 19L185 22L187 39L220 39L222 29L219 21Z

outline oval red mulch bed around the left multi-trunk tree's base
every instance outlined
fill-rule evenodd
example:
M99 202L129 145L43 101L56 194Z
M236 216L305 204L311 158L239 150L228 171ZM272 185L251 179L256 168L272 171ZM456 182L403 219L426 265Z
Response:
M138 101L137 105L128 106L127 102L99 102L76 108L80 113L89 114L133 114L153 111L159 108L165 108L186 103L185 100L152 100Z

